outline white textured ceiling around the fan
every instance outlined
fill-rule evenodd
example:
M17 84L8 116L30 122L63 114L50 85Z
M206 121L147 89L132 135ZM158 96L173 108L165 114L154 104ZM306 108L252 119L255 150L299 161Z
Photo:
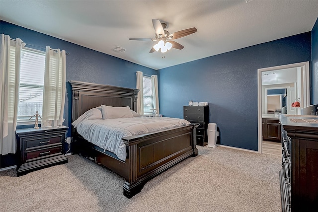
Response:
M1 20L155 70L308 32L317 17L318 0L0 0ZM155 38L154 18L197 32L149 53L155 41L129 38Z

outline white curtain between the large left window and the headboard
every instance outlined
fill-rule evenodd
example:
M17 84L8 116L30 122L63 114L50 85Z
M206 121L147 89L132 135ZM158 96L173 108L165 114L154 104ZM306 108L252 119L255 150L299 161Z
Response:
M66 92L65 51L50 49L45 51L43 109L41 127L61 126L63 123Z

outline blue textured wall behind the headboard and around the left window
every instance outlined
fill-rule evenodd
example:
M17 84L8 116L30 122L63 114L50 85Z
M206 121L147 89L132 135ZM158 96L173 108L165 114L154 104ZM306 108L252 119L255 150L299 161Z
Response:
M70 43L49 35L29 30L0 20L0 33L9 35L11 38L20 38L27 44L53 49L64 49L69 55L66 56L66 81L77 80L107 84L120 87L136 88L136 71L145 74L157 74L156 70L140 66L95 50L91 50L74 43ZM37 48L34 46L27 46ZM39 49L39 48L37 48ZM123 53L118 53L123 54ZM71 128L71 86L67 83L67 94L64 109L64 125ZM71 136L69 131L68 137Z

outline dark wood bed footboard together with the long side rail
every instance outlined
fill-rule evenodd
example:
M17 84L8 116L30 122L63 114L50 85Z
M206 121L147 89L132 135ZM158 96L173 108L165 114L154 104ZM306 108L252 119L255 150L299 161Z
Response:
M197 125L190 124L169 130L125 137L127 158L120 160L114 154L103 152L80 137L73 137L77 153L90 157L125 178L124 195L131 198L145 183L166 169L190 156L198 155Z

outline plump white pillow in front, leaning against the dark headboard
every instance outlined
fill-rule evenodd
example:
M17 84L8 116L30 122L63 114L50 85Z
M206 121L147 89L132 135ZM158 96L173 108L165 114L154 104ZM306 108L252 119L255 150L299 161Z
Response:
M111 107L101 105L103 119L133 118L130 107Z

